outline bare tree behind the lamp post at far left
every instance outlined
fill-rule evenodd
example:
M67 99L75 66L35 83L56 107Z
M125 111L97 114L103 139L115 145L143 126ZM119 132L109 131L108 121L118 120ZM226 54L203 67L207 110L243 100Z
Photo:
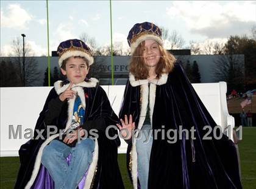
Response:
M23 73L23 44L21 43L20 38L16 38L12 42L12 52L10 53L10 56L13 57L12 63L15 64L15 67L17 67L17 74L20 77L21 85L24 85L23 74L25 74L24 78L26 86L32 86L35 82L37 82L39 72L37 61L33 57L34 52L32 51L29 44L26 43L24 46L24 55L25 73Z

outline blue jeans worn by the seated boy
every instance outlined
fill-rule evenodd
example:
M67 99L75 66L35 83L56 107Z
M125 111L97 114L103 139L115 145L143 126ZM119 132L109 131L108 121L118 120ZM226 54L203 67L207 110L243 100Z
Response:
M93 159L94 140L80 140L71 148L59 140L52 140L43 149L41 163L54 180L54 188L76 189ZM71 162L66 157L71 154Z

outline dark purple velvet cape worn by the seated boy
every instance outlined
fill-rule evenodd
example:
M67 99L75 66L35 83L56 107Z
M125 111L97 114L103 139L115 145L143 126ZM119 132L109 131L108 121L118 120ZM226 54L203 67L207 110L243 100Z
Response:
M85 126L98 126L102 125L102 119L104 119L103 130L99 130L98 145L99 145L99 156L97 172L94 176L93 188L124 188L121 173L119 171L117 162L117 147L120 145L120 140L117 137L115 140L109 140L105 136L105 128L108 125L116 125L118 117L108 101L107 95L101 86L97 85L95 88L84 88L85 92ZM37 120L35 129L45 129L43 136L46 138L46 126L44 124L44 116L48 111L48 103L53 98L57 98L58 95L55 89L49 92L49 95L44 104L43 110L40 112L40 116ZM56 125L59 129L64 129L67 121L68 103L66 102L62 106L62 111L59 117L54 119L51 125ZM101 126L102 128L102 126ZM109 135L114 136L117 134L116 129L110 129ZM37 132L34 133L34 138L37 136ZM90 136L90 135L89 135ZM44 140L29 140L24 145L21 145L19 150L20 155L20 170L16 179L14 188L24 188L29 182L32 171L34 170L35 158L37 157L38 150ZM37 179L44 180L46 184L36 186L35 188L52 188L52 179L49 177L47 170L44 168L40 169L39 174L43 177L38 176ZM38 180L35 180L37 182ZM42 182L40 182L42 183Z

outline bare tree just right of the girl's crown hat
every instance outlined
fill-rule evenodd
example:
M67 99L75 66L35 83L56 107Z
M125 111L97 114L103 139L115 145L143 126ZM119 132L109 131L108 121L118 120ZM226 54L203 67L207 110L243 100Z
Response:
M169 32L165 27L161 27L162 29L162 39L163 41L168 41L170 49L182 49L185 44L182 36L177 33L176 30L172 30Z

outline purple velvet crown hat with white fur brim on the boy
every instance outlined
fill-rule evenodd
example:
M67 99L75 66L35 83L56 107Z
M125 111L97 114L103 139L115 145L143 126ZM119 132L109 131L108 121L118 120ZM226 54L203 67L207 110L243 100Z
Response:
M59 66L62 66L63 60L69 57L84 57L88 60L89 66L93 64L93 56L91 55L91 50L81 40L73 39L66 40L59 44L57 49L57 54L59 55Z

